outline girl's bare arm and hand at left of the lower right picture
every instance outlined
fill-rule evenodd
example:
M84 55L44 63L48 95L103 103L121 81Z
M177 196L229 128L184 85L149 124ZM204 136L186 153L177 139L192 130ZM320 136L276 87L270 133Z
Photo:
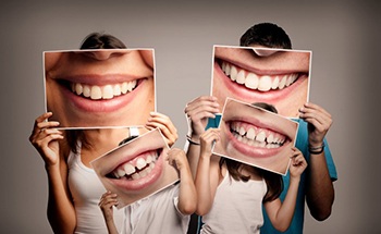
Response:
M217 156L212 156L211 147L219 139L219 130L209 128L200 137L200 156L195 178L198 204L196 213L208 213L213 205L216 190L220 180L220 168Z

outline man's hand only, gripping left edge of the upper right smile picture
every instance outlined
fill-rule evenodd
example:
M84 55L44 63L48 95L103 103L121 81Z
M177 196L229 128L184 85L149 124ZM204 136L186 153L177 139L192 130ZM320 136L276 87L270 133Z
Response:
M219 113L219 103L212 96L201 96L186 104L184 112L188 118L189 136L198 141L200 135L205 132L208 118L216 118Z

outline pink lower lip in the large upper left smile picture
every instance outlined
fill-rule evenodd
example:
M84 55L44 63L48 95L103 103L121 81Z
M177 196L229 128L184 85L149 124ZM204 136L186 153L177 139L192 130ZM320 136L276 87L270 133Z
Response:
M89 98L84 98L82 96L73 94L66 87L63 87L63 94L74 106L74 109L87 113L109 113L120 110L121 108L127 106L136 97L139 89L143 88L146 81L147 79L143 79L142 82L138 82L136 88L133 91L118 97L113 97L111 99L91 100Z

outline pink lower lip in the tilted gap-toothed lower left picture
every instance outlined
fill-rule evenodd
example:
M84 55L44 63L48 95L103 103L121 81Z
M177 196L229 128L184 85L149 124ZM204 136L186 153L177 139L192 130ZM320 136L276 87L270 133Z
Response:
M125 190L142 190L150 185L152 185L155 182L159 180L159 177L162 174L163 171L163 160L162 156L158 158L158 160L155 162L155 168L144 177L140 177L138 180L124 180L124 178L109 178L111 183L120 188L123 188Z

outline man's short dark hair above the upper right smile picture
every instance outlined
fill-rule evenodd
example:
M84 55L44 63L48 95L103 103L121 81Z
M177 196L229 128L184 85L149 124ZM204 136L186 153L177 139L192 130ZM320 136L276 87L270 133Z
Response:
M260 23L248 28L239 39L242 47L260 45L269 48L292 49L285 30L273 23Z

